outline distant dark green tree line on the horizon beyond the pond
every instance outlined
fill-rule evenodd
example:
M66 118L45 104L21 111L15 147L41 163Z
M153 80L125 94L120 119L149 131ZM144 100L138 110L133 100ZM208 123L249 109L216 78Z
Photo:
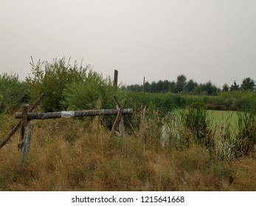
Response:
M218 88L211 81L206 83L200 83L189 79L184 74L179 75L176 81L159 80L158 82L145 82L145 85L127 85L123 86L124 90L131 90L136 92L148 92L148 93L186 93L193 95L212 95L215 96L221 91L229 92L234 90L251 90L256 92L256 82L251 77L243 79L241 85L238 85L236 81L231 86L224 84L222 88Z

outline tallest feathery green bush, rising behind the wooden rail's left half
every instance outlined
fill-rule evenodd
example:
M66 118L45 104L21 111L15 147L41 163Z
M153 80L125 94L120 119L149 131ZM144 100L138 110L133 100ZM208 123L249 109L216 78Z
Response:
M27 82L30 85L30 93L32 100L44 93L46 96L43 100L43 109L45 112L52 112L56 110L65 110L63 104L63 91L67 89L70 84L76 82L83 82L86 79L86 71L90 67L80 67L75 62L74 65L70 65L69 61L66 63L65 57L60 60L53 60L52 63L44 63L38 60L38 63L34 63L33 60L30 63L32 65L32 74L34 77L28 77ZM44 66L44 69L42 67Z

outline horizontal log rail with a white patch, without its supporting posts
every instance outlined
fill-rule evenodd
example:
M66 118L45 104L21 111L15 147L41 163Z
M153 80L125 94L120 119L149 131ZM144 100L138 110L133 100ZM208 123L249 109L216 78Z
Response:
M114 116L119 110L77 110L63 111L54 113L27 113L27 118L31 119L47 119L47 118L70 118L82 116ZM122 109L122 114L132 114L133 109ZM21 113L15 113L15 118L21 118Z

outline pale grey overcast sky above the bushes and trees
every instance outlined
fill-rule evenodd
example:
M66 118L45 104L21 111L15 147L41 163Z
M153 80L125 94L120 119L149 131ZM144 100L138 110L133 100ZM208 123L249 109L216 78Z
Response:
M0 0L0 74L30 56L90 64L119 83L256 80L255 0Z

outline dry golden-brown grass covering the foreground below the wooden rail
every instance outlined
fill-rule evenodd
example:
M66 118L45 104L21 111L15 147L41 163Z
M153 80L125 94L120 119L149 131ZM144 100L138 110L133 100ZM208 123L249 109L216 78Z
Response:
M12 117L13 118L13 117ZM11 118L10 118L11 119ZM7 122L7 121L6 121ZM15 121L2 124L1 139ZM145 122L144 122L145 124ZM207 149L162 150L151 125L109 138L100 121L35 121L21 165L19 133L0 149L1 191L255 191L256 160L216 162Z

